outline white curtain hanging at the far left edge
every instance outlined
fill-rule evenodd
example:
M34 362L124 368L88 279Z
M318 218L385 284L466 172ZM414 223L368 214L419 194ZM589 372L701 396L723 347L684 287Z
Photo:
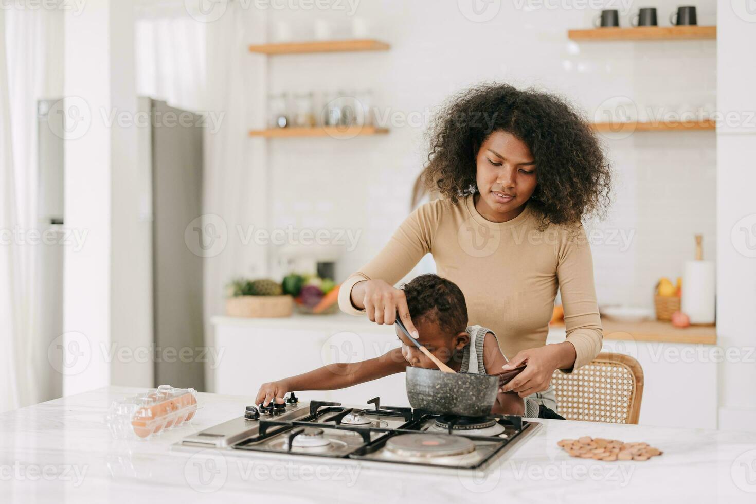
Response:
M47 359L37 221L37 100L63 90L62 11L0 11L0 411L48 400L60 375ZM23 232L23 234L19 233Z

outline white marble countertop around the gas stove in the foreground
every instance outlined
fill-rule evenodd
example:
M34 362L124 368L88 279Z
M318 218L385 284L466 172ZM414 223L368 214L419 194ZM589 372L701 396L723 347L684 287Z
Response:
M172 450L185 435L239 416L251 397L200 394L191 424L150 441L114 441L103 414L136 392L101 388L0 415L0 502L756 502L756 433L544 420L485 472L410 472ZM596 462L556 447L582 435L646 441L665 453Z

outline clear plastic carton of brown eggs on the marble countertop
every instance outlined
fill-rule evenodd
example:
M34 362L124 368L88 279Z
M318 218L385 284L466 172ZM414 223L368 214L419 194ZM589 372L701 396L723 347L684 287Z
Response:
M149 439L189 422L197 413L197 391L160 385L142 394L113 401L105 415L117 439Z

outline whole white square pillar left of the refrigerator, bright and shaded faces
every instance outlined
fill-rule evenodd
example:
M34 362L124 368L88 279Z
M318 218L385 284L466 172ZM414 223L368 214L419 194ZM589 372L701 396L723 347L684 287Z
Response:
M136 128L107 119L134 118L132 33L130 1L91 0L80 13L66 13L64 113L80 120L69 123L65 144L65 224L86 239L64 259L64 358L73 363L64 395L152 382L151 362L113 353L150 344L140 330L148 286L132 275L133 261L148 252L136 235Z

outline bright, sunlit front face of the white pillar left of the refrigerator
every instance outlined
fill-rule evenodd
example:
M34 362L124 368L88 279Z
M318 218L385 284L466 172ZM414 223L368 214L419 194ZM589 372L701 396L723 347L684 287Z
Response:
M64 259L64 331L78 333L75 346L84 351L71 358L89 360L80 364L84 369L64 376L64 395L110 382L107 363L92 358L93 349L110 343L111 138L104 123L91 122L92 110L110 108L110 76L101 66L110 61L108 3L93 2L80 16L69 13L65 20L64 93L90 121L88 129L86 122L78 126L81 130L72 129L64 147L66 227L88 232L81 251L67 251Z

